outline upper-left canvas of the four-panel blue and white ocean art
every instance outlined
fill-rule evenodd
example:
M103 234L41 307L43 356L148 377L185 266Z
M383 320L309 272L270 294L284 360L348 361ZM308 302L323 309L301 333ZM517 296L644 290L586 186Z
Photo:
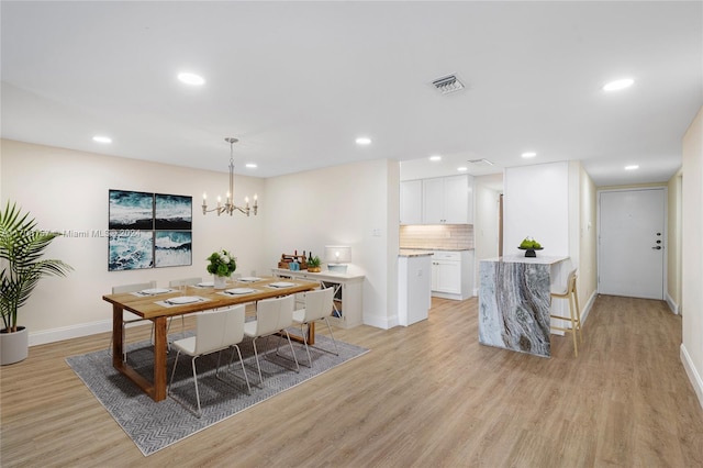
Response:
M154 193L110 190L110 230L153 230Z

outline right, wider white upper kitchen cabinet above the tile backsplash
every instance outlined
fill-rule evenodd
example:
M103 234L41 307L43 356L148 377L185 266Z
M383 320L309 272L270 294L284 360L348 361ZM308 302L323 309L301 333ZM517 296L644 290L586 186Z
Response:
M471 224L472 178L467 175L422 180L423 224Z

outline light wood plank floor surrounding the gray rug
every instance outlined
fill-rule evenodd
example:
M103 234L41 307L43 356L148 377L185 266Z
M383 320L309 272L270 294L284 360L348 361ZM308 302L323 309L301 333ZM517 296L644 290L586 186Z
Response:
M146 458L64 361L109 335L36 346L0 369L0 465L703 466L680 317L600 297L583 332L577 359L568 337L550 359L486 347L476 299L435 300L410 327L337 330L371 352Z

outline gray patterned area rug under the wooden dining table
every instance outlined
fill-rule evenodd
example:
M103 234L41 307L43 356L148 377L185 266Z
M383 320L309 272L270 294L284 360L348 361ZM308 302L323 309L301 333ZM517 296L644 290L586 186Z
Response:
M288 342L280 341L279 356L276 356L278 343L279 339L276 336L268 341L259 338L256 342L264 376L263 388L255 386L258 382L258 370L254 359L252 342L245 338L244 343L239 345L245 369L252 385L250 394L246 393L246 383L244 382L242 366L238 364L236 352L230 369L227 370L226 366L224 366L220 372L220 377L226 380L227 383L222 382L214 376L217 361L216 353L198 358L196 365L202 406L202 416L200 419L196 417L193 413L186 410L172 398L167 398L158 403L153 401L132 381L112 367L112 358L108 350L71 356L66 361L110 412L112 417L122 426L130 438L134 441L144 456L148 456L242 410L246 410L368 353L368 349L339 341L337 341L339 356L325 353L315 347L334 350L334 344L331 338L317 335L315 336L315 347L310 349L313 361L312 368L301 365L300 372L295 372L294 363L284 358L291 357ZM293 342L293 349L299 360L308 361L303 345ZM263 358L263 355L266 355L266 357ZM169 380L175 358L176 353L170 352L168 357ZM230 352L223 352L222 361L227 363L228 358ZM154 354L148 342L127 345L127 359L130 365L140 374L148 377L149 380L152 379ZM190 403L193 408L196 406L196 388L189 356L181 355L178 359L172 392L180 400Z

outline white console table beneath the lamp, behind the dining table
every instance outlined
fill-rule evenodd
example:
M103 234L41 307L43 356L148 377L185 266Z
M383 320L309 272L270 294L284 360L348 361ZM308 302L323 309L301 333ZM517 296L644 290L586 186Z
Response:
M272 268L271 274L279 278L319 281L322 288L334 288L334 303L330 323L342 328L352 328L364 323L361 291L364 275L347 275L334 271L310 272L308 270L287 270ZM304 299L299 294L297 299L304 307Z

